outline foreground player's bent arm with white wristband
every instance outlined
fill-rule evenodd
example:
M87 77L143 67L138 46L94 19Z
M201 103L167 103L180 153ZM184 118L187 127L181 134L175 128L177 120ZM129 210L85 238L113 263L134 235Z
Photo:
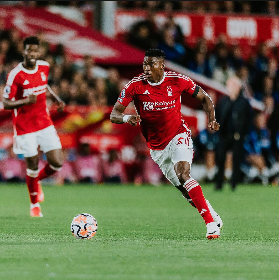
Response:
M136 126L138 125L138 121L141 122L141 118L139 115L124 115L123 112L125 111L126 106L116 102L112 112L110 114L110 121L112 123L124 123L127 122L130 125Z

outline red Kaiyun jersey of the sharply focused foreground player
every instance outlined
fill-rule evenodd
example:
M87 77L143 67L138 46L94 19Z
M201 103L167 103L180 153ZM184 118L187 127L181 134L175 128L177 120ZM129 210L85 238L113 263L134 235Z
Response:
M151 83L140 74L125 85L117 101L128 106L134 100L147 146L164 150L174 136L190 131L181 116L180 97L182 93L195 97L198 90L190 78L175 72L164 72L159 83Z

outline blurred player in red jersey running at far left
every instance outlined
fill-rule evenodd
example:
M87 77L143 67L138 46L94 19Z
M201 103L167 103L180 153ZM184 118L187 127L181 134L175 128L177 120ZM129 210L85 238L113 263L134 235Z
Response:
M27 165L26 183L31 200L30 216L42 217L39 202L44 201L40 180L62 168L62 146L46 107L49 64L38 60L39 39L31 36L23 41L23 62L8 74L4 88L4 109L12 110L14 127L13 151L23 154ZM65 103L50 96L63 111ZM38 148L48 163L38 169Z

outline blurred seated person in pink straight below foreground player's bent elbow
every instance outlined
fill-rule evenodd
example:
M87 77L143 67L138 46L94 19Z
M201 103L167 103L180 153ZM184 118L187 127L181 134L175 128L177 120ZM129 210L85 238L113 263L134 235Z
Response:
M124 164L116 150L112 149L108 152L108 158L103 161L103 172L106 183L127 183Z

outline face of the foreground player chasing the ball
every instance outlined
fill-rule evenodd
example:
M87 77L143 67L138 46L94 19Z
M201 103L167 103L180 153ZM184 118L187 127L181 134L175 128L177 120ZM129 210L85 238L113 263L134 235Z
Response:
M143 60L143 71L146 76L146 80L150 82L156 82L162 79L165 63L157 57L146 56ZM158 81L158 82L159 82Z

